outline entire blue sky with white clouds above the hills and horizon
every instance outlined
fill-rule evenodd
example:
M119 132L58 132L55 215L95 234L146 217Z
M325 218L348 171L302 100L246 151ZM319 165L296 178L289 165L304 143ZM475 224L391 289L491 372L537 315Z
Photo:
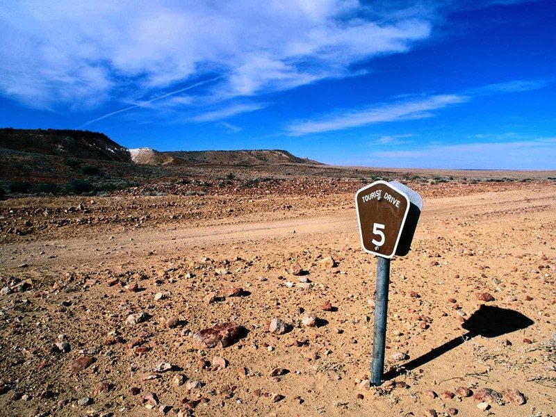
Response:
M554 1L2 1L0 126L556 169Z

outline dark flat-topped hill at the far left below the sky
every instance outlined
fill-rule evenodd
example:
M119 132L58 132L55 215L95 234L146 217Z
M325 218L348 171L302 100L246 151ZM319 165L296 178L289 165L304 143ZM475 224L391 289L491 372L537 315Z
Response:
M58 129L0 129L0 147L31 154L131 162L122 145L104 133Z

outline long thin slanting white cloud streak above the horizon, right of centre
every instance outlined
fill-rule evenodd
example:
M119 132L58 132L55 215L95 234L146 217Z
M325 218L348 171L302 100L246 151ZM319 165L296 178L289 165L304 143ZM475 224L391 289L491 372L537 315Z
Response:
M286 131L293 136L300 136L383 122L422 119L431 117L433 115L431 112L434 110L464 103L467 100L468 97L464 95L433 95L409 101L396 101L368 108L340 111L324 115L318 120L295 122L286 126Z

